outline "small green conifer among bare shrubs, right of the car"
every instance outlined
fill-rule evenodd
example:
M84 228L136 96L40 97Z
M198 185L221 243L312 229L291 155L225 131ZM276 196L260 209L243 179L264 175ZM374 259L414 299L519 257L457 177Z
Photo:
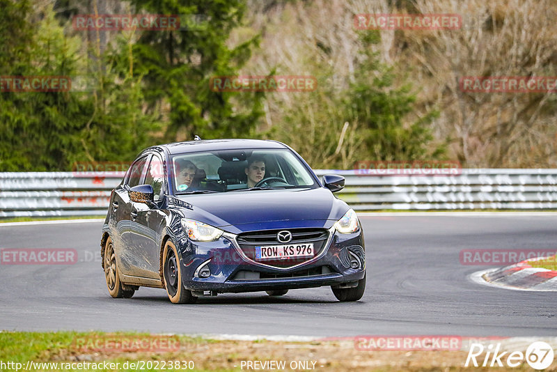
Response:
M354 74L354 83L345 92L345 118L362 130L364 152L368 160L430 160L443 153L432 146L429 125L437 111L429 111L414 123L405 125L413 114L416 95L411 85L394 88L392 68L379 63L371 52L378 42L377 33L361 33L361 63Z

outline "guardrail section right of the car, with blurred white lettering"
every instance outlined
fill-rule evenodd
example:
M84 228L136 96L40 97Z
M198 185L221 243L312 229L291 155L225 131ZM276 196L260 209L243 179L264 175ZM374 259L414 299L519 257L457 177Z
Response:
M331 171L319 173L327 172ZM354 210L557 208L557 169L462 169L456 176L332 172L345 176L345 189L339 197Z

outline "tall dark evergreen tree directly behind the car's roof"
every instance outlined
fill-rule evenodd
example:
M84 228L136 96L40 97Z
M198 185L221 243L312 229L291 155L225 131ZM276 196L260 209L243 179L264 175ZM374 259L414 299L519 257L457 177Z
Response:
M136 13L180 15L176 31L143 31L135 71L145 76L150 107L168 104L168 140L253 135L262 115L262 93L223 93L210 78L237 75L258 38L230 49L226 42L240 24L244 0L131 0ZM187 5L186 5L187 3Z

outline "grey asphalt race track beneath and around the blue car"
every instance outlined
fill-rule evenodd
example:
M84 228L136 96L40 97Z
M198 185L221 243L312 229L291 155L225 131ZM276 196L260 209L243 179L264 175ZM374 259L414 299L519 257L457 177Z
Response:
M462 249L557 247L557 216L361 217L366 294L330 288L204 297L173 305L162 289L109 296L100 222L1 226L0 248L74 248L74 265L0 265L0 330L138 330L187 334L554 336L557 295L475 284Z

